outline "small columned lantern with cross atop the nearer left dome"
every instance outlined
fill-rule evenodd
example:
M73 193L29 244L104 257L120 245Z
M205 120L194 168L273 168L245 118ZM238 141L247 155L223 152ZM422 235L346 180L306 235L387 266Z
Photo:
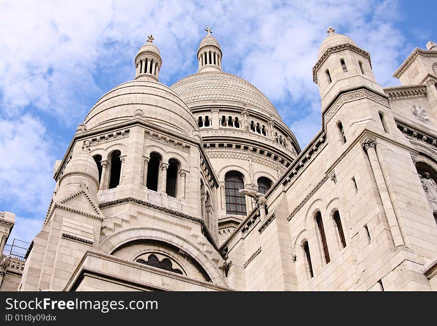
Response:
M153 36L150 34L147 43L140 48L135 57L135 66L137 68L135 79L159 81L162 59L159 49L153 44L153 40Z

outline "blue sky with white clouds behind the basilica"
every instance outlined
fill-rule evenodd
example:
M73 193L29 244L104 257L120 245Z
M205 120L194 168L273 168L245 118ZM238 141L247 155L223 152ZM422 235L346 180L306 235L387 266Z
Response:
M95 102L135 76L153 34L160 82L197 72L210 26L223 71L259 88L300 147L321 128L312 67L328 26L371 55L382 86L416 48L437 42L436 1L0 0L0 211L16 214L8 242L30 242L53 194L53 166Z

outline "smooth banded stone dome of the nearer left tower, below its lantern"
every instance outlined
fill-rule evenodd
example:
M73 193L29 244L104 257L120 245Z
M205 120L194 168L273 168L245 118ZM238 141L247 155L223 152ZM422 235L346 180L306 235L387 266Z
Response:
M140 111L141 110L141 111ZM132 80L103 95L85 118L87 130L106 127L142 116L147 122L190 135L198 130L190 109L165 85Z

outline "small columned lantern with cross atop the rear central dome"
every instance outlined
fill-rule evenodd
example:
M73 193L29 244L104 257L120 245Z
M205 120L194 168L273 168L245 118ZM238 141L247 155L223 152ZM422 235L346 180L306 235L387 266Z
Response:
M197 59L199 61L199 70L197 72L222 71L220 45L211 35L213 31L209 27L205 30L208 35L200 42L199 50L197 50Z

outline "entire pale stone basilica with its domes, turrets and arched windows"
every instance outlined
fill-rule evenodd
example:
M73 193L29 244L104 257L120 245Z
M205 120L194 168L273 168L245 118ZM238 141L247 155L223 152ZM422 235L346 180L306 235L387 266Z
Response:
M205 30L196 73L161 84L150 35L135 78L90 109L0 290L437 290L437 45L382 87L329 27L312 69L322 125L300 148ZM3 252L14 214L0 226Z

